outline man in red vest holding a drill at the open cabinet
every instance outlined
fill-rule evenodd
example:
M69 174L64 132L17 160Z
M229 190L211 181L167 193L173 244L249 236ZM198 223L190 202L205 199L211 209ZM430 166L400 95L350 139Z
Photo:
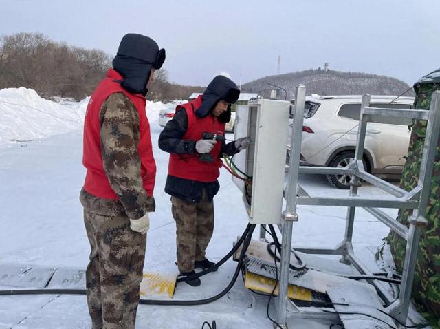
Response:
M214 229L212 198L219 191L221 156L232 156L248 147L249 138L226 144L225 123L230 120L231 103L240 90L225 76L216 76L203 95L177 105L175 116L159 136L160 149L170 153L165 192L171 195L176 222L177 267L186 277L195 268L214 265L205 255ZM186 279L191 286L199 277Z

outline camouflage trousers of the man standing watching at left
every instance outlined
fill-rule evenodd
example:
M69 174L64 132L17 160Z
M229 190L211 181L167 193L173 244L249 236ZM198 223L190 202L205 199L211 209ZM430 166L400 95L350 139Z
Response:
M146 235L132 231L129 218L84 211L91 253L86 271L92 328L135 328Z

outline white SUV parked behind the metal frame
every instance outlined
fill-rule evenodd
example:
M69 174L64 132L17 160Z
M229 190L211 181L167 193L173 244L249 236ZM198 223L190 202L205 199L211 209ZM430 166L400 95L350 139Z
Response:
M370 107L412 109L412 97L371 96ZM347 167L354 158L362 96L306 97L301 145L301 165ZM395 119L394 119L395 120ZM398 122L368 123L364 146L366 171L382 178L399 176L410 140L410 119ZM291 123L292 126L292 123ZM289 158L290 136L287 140ZM351 176L329 175L339 189L349 189Z

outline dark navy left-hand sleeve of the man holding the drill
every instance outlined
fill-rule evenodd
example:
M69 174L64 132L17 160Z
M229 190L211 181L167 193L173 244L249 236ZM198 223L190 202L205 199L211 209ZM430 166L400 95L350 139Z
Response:
M181 139L188 129L188 117L181 109L169 120L159 136L159 148L175 154L194 154L195 140Z

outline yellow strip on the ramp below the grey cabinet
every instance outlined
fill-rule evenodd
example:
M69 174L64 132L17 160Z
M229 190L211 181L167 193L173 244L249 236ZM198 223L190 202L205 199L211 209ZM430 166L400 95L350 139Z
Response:
M275 280L268 277L263 277L258 274L246 272L245 274L245 287L248 289L260 291L261 293L272 293L275 286ZM274 295L278 295L278 286L274 291ZM287 296L290 299L296 299L301 301L312 301L311 290L306 288L301 288L289 284L289 289L287 290Z

